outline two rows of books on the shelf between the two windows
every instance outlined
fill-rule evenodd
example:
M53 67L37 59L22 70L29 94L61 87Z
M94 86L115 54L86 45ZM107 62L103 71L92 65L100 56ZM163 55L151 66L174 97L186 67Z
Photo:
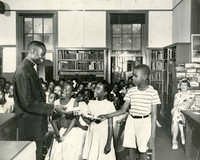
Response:
M57 65L63 71L101 71L104 69L104 50L57 51Z

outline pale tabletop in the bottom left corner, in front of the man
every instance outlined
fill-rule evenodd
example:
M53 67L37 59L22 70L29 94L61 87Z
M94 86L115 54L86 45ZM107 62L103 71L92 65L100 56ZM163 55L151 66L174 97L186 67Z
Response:
M30 141L0 141L0 160L36 160L36 145Z

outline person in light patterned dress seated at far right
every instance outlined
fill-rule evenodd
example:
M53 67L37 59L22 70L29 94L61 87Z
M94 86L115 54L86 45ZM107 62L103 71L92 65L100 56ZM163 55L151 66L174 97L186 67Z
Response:
M180 91L175 94L174 97L174 107L171 110L172 114L172 150L178 149L178 134L180 131L181 135L181 143L185 144L185 136L184 136L184 125L185 125L185 118L182 110L187 110L192 107L194 104L194 94L189 90L190 83L188 80L184 79L179 83Z

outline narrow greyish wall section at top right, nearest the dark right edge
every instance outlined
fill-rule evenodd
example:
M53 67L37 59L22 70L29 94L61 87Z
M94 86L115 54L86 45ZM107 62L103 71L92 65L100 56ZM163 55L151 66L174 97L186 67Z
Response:
M173 43L190 42L191 1L182 0L173 9Z

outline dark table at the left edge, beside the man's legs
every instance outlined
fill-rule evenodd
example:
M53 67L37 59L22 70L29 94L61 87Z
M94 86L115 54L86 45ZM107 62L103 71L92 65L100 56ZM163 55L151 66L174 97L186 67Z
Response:
M0 140L17 140L17 119L14 113L0 113Z

